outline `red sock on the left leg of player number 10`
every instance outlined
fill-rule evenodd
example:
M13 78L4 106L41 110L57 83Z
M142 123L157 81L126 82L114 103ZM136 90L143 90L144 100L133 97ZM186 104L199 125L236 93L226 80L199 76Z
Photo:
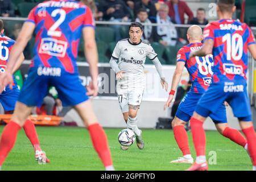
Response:
M199 119L192 117L190 120L190 125L193 143L196 150L196 156L205 156L206 137L203 128L203 122L201 122Z

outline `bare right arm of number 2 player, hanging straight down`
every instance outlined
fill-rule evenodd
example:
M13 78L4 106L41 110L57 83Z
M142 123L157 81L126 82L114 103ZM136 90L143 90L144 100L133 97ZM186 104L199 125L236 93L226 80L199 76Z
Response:
M98 94L98 51L95 41L94 28L84 27L82 30L82 35L84 36L84 52L86 60L89 64L90 76L92 77L92 82L90 82L88 89L89 96L97 96Z

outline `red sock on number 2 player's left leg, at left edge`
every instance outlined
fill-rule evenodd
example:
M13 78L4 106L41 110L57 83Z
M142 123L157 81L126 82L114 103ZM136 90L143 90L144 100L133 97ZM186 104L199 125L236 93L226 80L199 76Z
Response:
M0 166L2 166L7 155L11 151L11 148L13 148L20 128L21 127L17 123L10 121L5 126L5 129L3 129L0 140Z

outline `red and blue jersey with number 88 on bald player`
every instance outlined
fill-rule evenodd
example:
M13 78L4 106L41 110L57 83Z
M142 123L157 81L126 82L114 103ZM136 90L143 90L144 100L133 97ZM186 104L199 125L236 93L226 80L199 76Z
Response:
M213 55L189 58L191 51L196 51L203 46L202 43L191 43L183 46L177 52L177 61L183 61L192 81L191 92L204 93L212 83Z

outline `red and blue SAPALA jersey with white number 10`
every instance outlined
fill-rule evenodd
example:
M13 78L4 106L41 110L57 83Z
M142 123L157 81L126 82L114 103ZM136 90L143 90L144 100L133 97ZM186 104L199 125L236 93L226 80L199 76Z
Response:
M255 44L250 27L238 20L222 19L204 28L204 40L214 41L213 81L246 80L248 49Z

